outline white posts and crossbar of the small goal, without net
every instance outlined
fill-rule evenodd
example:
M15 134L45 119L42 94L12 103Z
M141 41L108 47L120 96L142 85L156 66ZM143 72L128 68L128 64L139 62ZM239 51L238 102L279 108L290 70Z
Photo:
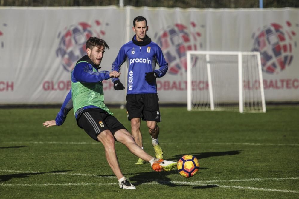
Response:
M263 87L263 75L262 75L262 66L260 60L260 52L240 52L240 51L187 51L187 110L192 110L192 71L191 71L191 55L205 55L206 56L206 69L208 77L208 89L209 89L209 98L210 98L210 109L213 111L214 108L214 96L213 96L213 86L210 70L210 55L237 55L238 56L238 87L239 87L239 112L244 112L243 104L243 68L242 68L242 55L256 55L257 56L257 67L260 83L260 96L262 103L262 112L266 112L266 103Z

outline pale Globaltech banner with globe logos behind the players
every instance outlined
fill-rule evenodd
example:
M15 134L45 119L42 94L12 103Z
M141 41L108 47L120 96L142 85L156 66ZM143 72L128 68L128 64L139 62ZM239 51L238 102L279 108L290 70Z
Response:
M107 42L100 66L110 71L136 16L147 18L147 34L169 64L157 79L161 103L187 103L187 50L259 51L266 102L299 101L299 9L0 7L0 104L62 103L86 40ZM124 63L123 83L126 72ZM125 102L111 80L103 86L106 104Z

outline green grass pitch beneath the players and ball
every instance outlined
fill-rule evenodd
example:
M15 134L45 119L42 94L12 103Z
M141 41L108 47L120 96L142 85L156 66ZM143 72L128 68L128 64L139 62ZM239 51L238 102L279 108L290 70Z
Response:
M111 109L130 130L126 111ZM0 198L299 198L299 107L267 113L187 112L161 108L164 158L198 158L199 172L154 172L116 143L136 190L122 190L104 148L77 127L45 128L59 109L0 109ZM144 150L154 155L146 123Z

